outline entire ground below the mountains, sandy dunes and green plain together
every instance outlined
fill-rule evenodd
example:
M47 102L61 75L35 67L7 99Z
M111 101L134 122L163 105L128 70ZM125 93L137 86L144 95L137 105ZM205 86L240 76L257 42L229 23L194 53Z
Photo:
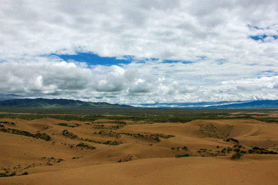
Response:
M278 184L277 109L0 112L0 184Z

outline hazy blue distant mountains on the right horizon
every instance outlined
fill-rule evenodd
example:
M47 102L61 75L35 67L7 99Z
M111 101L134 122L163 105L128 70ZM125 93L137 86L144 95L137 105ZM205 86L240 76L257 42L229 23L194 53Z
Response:
M132 104L152 108L278 108L278 100Z

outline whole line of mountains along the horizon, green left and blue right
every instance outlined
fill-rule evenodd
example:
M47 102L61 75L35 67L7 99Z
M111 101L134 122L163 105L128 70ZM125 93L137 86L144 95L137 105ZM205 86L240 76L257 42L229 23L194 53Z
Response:
M136 108L131 105L107 102L84 102L68 99L13 99L0 101L1 108ZM238 102L199 102L142 104L145 108L278 108L278 100L253 100Z

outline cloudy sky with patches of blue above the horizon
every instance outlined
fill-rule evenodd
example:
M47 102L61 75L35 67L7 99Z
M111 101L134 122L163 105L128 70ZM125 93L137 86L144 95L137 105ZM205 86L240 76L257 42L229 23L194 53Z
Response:
M278 99L277 1L0 2L0 100Z

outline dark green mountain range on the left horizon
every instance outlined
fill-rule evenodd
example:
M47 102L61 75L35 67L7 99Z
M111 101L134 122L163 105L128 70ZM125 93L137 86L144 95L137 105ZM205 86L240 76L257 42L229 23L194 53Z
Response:
M129 105L110 104L106 102L83 102L67 99L14 99L0 101L5 108L129 108Z

